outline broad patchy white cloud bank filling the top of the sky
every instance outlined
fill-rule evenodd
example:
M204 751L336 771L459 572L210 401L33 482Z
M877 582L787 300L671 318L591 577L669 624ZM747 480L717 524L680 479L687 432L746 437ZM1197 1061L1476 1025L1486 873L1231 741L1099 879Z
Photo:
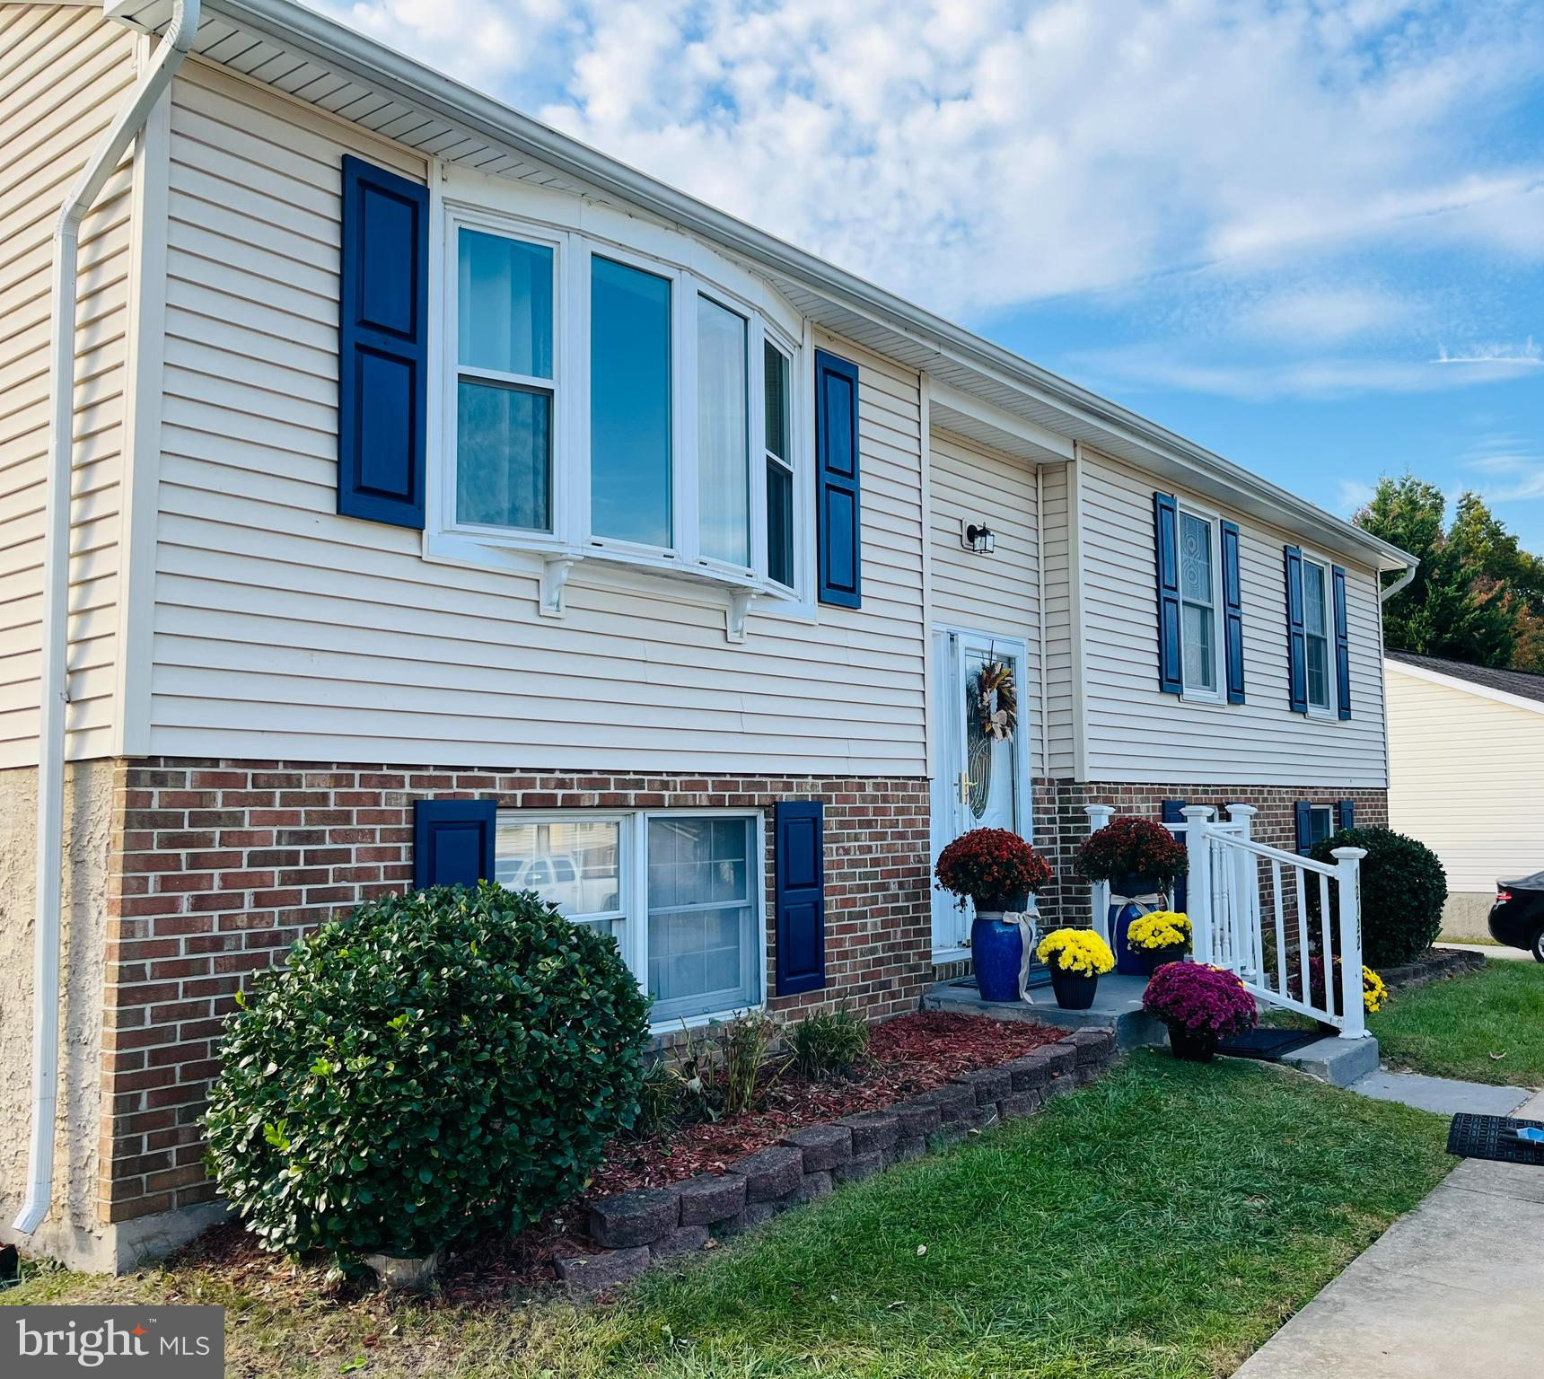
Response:
M1485 137L1544 71L1527 0L312 3L951 313L1371 239L1544 258L1544 156Z

